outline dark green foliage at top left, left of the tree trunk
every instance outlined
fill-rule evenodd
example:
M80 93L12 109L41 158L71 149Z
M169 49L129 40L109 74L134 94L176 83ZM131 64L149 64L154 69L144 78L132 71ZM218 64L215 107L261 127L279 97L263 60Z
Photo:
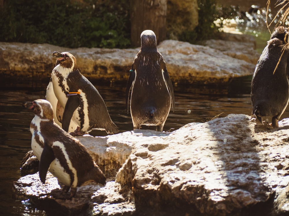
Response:
M0 41L63 47L127 48L127 0L8 0L0 9Z

